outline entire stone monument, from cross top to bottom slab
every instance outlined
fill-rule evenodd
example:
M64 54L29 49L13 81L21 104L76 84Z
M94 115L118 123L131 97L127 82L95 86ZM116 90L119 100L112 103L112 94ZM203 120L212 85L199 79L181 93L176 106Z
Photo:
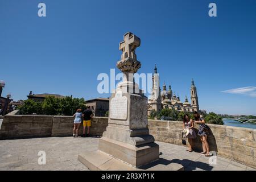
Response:
M141 39L131 32L123 39L119 44L121 60L117 62L123 81L110 97L108 127L98 141L98 151L79 155L79 161L91 170L134 170L159 161L159 145L148 130L147 97L133 79L141 68L135 54Z

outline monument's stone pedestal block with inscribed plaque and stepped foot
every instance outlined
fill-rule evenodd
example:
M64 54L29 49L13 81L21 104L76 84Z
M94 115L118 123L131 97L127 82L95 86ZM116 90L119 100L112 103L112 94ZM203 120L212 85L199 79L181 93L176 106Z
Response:
M147 97L123 92L119 87L110 98L109 125L98 150L138 168L159 159L159 146L147 126Z

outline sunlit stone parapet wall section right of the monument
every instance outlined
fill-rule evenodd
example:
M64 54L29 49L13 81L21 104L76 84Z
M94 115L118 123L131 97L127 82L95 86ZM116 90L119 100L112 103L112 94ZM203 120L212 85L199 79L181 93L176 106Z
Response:
M148 120L150 134L160 142L182 145L183 122ZM208 143L210 151L236 162L256 168L256 130L242 127L210 125ZM196 133L198 125L195 125ZM194 150L202 151L200 137L193 140Z

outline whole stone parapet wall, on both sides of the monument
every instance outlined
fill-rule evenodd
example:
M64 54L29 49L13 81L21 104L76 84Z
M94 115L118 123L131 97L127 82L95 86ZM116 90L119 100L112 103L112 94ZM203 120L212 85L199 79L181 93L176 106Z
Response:
M65 137L73 134L73 117L16 115L13 111L5 115L0 139L27 137ZM108 118L94 117L90 129L92 135L101 136L108 126ZM211 151L218 155L256 168L256 130L241 127L210 125L208 143ZM177 145L181 143L183 122L148 120L150 134L156 141ZM195 127L197 132L197 125ZM82 134L82 125L80 127ZM201 141L193 140L194 150L201 151Z

